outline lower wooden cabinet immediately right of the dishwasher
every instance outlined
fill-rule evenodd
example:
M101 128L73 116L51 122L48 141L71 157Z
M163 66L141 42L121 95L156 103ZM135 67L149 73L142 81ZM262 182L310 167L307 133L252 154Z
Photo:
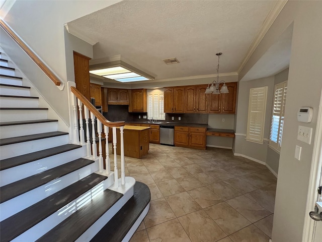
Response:
M206 149L206 128L175 126L175 146Z

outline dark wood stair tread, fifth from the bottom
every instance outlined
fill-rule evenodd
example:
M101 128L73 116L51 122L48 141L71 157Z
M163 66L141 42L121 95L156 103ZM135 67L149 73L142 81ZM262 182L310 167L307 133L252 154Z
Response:
M0 161L0 170L9 169L18 165L26 164L35 160L40 160L49 156L57 155L81 147L82 146L80 145L66 144L25 155L19 155L12 158L4 159Z

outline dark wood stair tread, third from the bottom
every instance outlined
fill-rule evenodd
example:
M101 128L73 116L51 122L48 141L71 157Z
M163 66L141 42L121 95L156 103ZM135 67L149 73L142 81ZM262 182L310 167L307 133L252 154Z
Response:
M0 223L1 241L14 239L74 199L94 188L106 178L106 176L96 173L90 174L67 188L3 220Z

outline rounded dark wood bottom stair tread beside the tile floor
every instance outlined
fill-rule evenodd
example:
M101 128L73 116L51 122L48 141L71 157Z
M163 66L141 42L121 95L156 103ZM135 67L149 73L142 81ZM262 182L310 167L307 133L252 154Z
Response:
M91 242L122 241L149 202L149 188L136 181L134 196L94 236Z

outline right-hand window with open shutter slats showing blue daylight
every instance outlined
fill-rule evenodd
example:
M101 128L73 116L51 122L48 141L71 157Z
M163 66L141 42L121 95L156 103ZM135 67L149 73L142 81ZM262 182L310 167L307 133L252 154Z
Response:
M287 81L275 85L274 105L270 132L270 146L280 150L282 144L284 110L286 103Z

